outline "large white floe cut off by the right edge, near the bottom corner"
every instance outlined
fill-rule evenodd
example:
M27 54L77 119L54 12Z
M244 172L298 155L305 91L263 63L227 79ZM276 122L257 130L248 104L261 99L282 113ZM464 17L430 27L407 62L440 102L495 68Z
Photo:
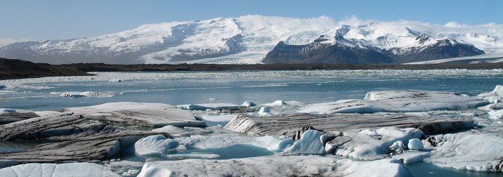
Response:
M502 171L503 138L492 134L452 133L434 136L426 159L438 166L472 171Z

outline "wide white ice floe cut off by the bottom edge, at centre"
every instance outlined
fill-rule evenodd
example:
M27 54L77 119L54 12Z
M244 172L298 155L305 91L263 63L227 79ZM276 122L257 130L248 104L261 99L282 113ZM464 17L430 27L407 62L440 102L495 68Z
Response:
M186 159L147 162L149 176L412 176L396 159L358 162L320 156L266 156L243 159Z

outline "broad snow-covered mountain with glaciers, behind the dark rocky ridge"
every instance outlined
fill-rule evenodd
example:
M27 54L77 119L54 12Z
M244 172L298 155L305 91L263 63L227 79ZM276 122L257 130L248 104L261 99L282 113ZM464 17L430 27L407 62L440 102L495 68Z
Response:
M347 25L344 25L346 24ZM473 46L473 51L503 53L502 25L430 25L422 22L334 22L331 18L280 18L247 15L142 25L89 39L24 41L0 48L0 57L37 63L262 63L278 44L341 45L365 48L379 57L409 55L431 46ZM503 37L503 36L502 36ZM280 42L281 41L281 42ZM315 47L315 48L316 48ZM312 50L311 48L310 50ZM376 53L377 52L377 53ZM437 51L442 52L442 51ZM379 54L381 53L381 54ZM465 53L477 55L480 52ZM367 55L362 55L367 56ZM462 55L445 55L459 57ZM427 55L418 57L433 60ZM268 60L268 58L266 58ZM267 61L265 60L265 61ZM391 59L396 62L396 58ZM412 62L403 60L398 62Z

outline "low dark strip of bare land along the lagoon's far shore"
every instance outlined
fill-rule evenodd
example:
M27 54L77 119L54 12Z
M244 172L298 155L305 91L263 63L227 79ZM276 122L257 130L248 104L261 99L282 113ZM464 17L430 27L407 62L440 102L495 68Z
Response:
M104 63L78 63L70 65L49 65L31 63L24 60L0 58L0 80L32 77L81 76L86 72L164 72L164 71L220 71L220 70L432 70L432 69L499 69L503 63L445 63L429 65L351 65L351 64L179 64L179 65L107 65Z

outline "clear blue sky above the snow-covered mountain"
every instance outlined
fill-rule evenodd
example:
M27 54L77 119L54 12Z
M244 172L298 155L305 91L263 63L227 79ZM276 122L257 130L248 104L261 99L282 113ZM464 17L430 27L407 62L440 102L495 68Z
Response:
M503 24L502 8L502 0L1 0L0 39L95 37L148 23L240 15Z

